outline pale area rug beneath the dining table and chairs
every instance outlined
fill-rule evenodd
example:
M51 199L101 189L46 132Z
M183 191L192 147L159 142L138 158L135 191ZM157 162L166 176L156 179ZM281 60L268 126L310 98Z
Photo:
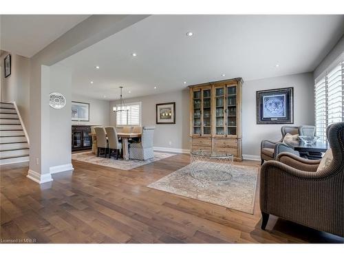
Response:
M83 161L83 162L92 163L92 164L96 164L100 166L109 166L114 169L131 170L131 169L137 168L138 166L143 166L145 164L162 160L164 158L169 158L174 155L175 154L154 151L154 158L150 160L122 160L122 159L115 160L114 157L111 157L111 158L97 157L94 153L92 153L92 151L87 151L87 152L73 153L72 160Z

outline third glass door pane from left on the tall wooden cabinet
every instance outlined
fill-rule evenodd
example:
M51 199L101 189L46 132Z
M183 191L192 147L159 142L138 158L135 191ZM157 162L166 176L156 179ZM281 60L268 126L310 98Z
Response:
M226 132L226 87L215 87L215 135L225 136Z

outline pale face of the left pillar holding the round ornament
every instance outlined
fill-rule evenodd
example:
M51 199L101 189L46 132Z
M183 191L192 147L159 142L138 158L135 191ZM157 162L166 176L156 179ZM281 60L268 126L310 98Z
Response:
M50 92L59 92L65 96L63 109L50 110L50 162L49 166L61 166L72 163L72 72L63 65L50 67Z

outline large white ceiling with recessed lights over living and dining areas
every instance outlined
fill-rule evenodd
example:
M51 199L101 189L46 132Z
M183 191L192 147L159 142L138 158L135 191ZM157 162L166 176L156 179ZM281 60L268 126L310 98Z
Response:
M113 100L120 85L131 98L312 72L343 32L343 15L153 15L62 63L72 67L74 93Z

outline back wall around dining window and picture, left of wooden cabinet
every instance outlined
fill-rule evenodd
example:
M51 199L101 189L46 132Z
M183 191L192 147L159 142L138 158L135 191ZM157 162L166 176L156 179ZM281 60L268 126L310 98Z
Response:
M142 103L142 125L155 125L155 104L175 102L175 125L155 125L154 147L189 149L189 89L151 96L125 99L125 103ZM111 101L110 109L116 105ZM110 124L116 126L111 111ZM171 144L170 144L171 142Z

